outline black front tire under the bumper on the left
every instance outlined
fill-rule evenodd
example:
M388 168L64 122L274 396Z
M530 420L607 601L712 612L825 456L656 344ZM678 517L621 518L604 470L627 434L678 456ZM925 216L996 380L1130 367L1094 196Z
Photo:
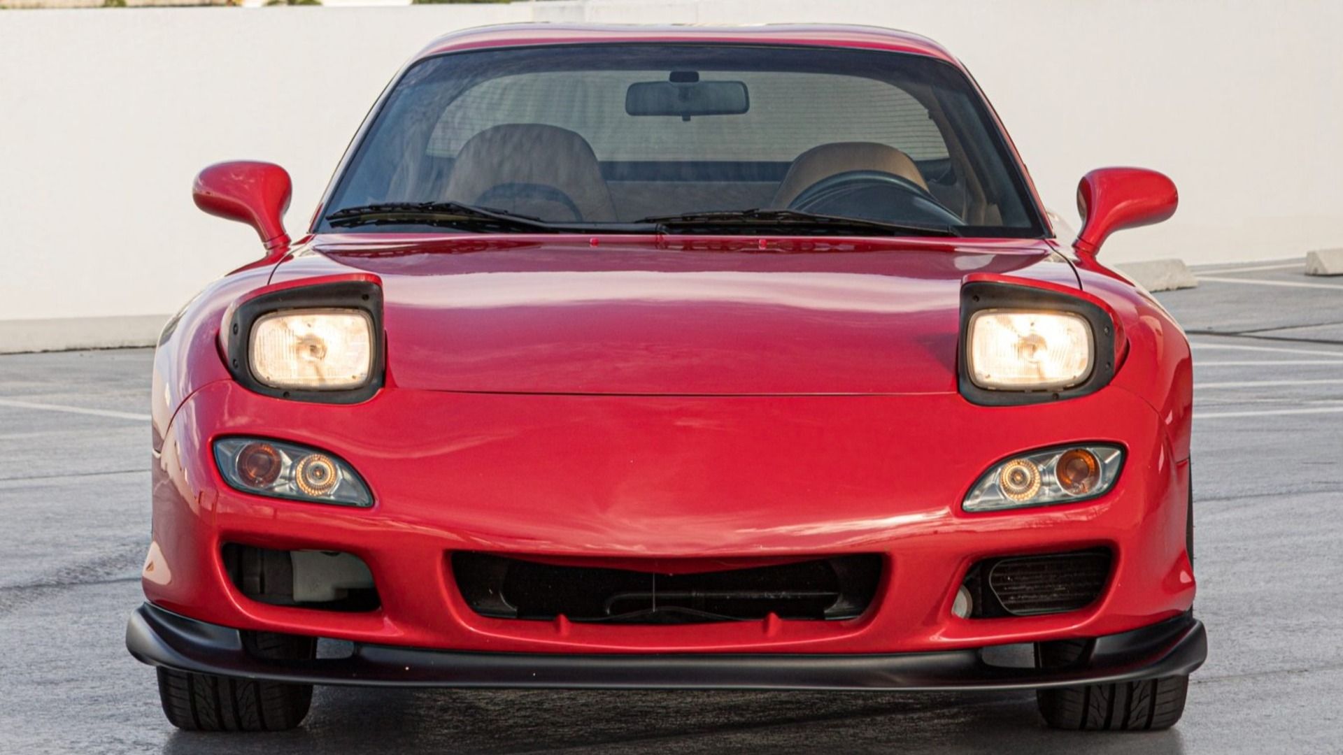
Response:
M308 660L316 642L289 634L248 633L244 643L262 658ZM308 716L310 684L158 669L158 699L172 725L185 731L285 731Z

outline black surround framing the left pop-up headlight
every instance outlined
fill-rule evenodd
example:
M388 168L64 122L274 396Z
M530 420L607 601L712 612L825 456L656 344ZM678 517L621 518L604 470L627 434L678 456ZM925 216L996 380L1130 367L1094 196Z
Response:
M369 369L368 383L359 388L338 391L302 391L275 388L258 380L252 375L247 359L247 345L257 320L273 312L316 308L359 309L367 312L372 318L373 365ZM238 305L228 321L228 341L224 356L228 360L228 372L234 376L234 380L248 391L299 402L352 404L368 400L381 390L387 372L384 343L383 287L368 281L337 281L334 283L316 283L269 292Z

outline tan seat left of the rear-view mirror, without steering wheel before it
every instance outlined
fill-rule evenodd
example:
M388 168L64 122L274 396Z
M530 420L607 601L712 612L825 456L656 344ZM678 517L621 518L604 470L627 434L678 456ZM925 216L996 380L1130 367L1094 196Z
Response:
M445 199L544 220L612 222L615 206L592 146L543 124L492 126L466 140Z

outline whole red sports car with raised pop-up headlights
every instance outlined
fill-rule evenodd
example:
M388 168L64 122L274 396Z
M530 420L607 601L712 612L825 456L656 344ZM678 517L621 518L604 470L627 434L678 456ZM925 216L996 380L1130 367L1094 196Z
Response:
M1158 729L1193 617L1191 361L1054 238L945 50L857 27L510 26L430 44L308 232L164 329L130 652L168 719L312 685L1038 689Z

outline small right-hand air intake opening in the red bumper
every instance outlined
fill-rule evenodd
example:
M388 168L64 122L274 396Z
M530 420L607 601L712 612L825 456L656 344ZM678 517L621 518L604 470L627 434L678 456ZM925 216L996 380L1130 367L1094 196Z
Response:
M987 559L966 576L974 618L1061 614L1086 607L1109 582L1105 548Z

